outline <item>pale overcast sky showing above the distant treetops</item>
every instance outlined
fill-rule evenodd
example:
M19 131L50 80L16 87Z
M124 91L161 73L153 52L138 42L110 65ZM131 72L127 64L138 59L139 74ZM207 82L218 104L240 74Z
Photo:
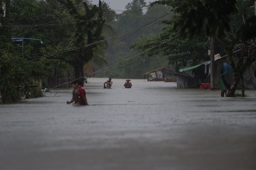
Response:
M99 4L99 0L91 0L92 4L98 5ZM120 14L125 10L125 6L132 2L133 0L101 0L102 2L106 2L109 7L112 10L115 10L116 13ZM154 2L156 0L144 0L144 2L146 2L146 5L149 5L149 2Z

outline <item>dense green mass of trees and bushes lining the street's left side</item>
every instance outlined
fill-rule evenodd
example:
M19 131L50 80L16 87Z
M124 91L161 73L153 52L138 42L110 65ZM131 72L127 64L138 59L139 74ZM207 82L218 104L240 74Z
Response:
M78 69L76 77L83 77L85 63L106 63L102 30L111 27L104 25L109 19L99 19L103 11L110 11L106 3L100 10L88 1L60 2L0 0L6 7L0 9L0 87L5 102L19 99L17 88L33 86L37 78L66 76L70 64ZM24 44L11 41L22 37ZM32 97L42 96L40 91L34 91Z

